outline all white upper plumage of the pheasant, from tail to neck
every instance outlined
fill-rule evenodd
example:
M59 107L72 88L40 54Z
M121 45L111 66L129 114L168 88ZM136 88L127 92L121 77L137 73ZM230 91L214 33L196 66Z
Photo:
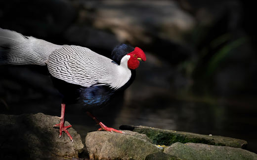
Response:
M128 68L129 57L125 56L118 65L86 47L55 45L42 39L0 29L0 64L47 65L53 77L83 87L122 87L131 76Z

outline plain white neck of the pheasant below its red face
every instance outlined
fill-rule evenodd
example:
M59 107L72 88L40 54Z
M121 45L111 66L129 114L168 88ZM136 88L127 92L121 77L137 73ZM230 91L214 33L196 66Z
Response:
M109 67L110 74L99 82L108 84L113 89L119 89L125 85L131 77L131 70L128 67L129 58L129 55L124 56L120 65L112 63Z

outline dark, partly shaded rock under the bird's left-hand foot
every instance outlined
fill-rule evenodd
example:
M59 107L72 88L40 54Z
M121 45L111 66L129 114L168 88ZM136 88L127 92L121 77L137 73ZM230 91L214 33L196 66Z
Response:
M81 136L69 128L74 141L59 129L57 117L38 114L0 114L0 158L1 159L43 159L52 157L78 157L84 145ZM70 125L65 122L65 126Z

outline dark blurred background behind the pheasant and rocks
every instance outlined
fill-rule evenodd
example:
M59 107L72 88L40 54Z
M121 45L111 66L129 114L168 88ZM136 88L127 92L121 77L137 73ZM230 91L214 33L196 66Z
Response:
M120 43L140 47L146 63L121 95L123 101L114 101L98 119L114 128L143 125L245 139L247 149L257 153L257 26L252 3L1 0L0 28L55 44L85 46L107 57ZM47 68L0 66L0 113L59 116L60 103ZM65 114L83 140L98 128L76 107L67 106Z

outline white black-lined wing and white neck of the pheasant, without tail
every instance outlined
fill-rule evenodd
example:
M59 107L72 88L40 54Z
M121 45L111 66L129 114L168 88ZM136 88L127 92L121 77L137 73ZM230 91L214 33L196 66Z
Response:
M64 45L49 55L47 67L52 76L68 83L84 87L106 84L118 89L131 76L128 60L125 57L118 65L86 47Z

